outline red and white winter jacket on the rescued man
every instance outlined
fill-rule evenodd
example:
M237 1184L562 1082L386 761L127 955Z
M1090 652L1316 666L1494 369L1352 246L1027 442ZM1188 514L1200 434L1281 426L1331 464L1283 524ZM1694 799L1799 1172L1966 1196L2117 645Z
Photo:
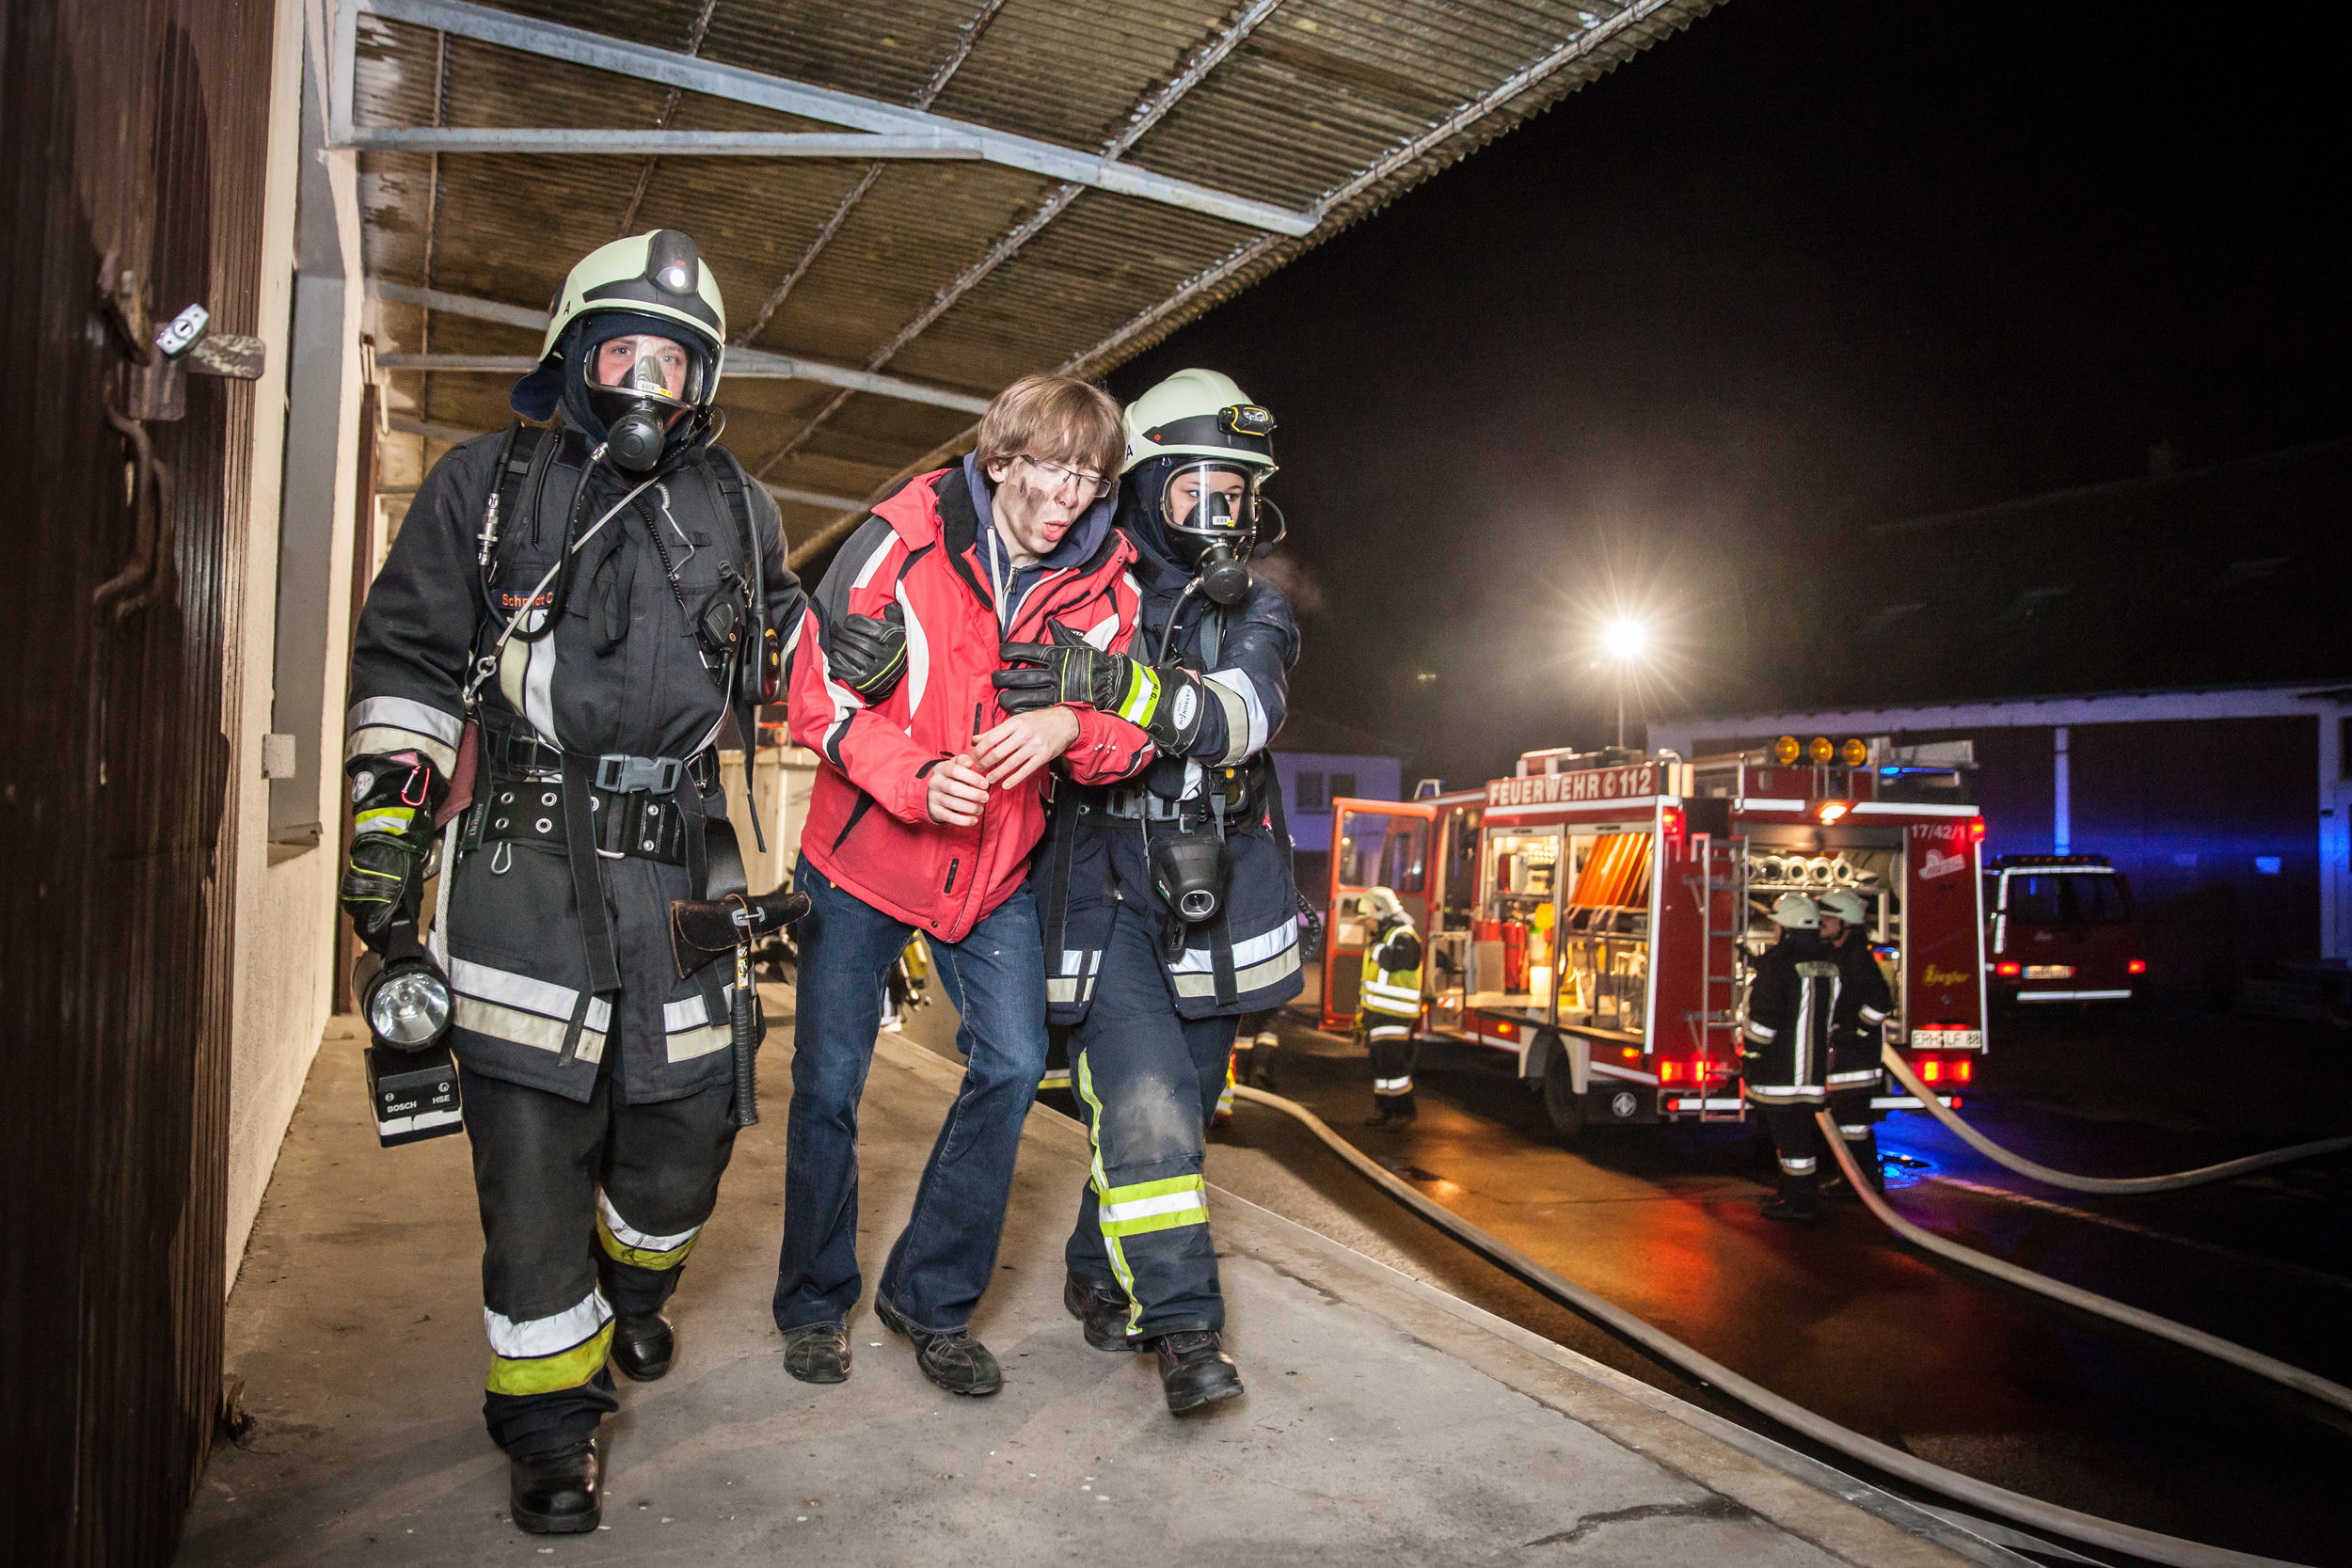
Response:
M997 646L1051 642L1047 621L1061 621L1124 654L1141 609L1134 545L1105 527L1082 564L1044 571L1002 625L981 527L962 465L882 501L809 599L790 675L793 741L821 757L800 851L835 886L948 943L1018 891L1044 835L1051 769L990 792L978 827L934 823L927 806L931 769L1004 722L988 682L1002 668ZM906 675L868 708L830 679L828 628L880 616L891 602L906 614ZM1115 783L1152 759L1134 724L1073 712L1077 743L1058 764L1073 780Z

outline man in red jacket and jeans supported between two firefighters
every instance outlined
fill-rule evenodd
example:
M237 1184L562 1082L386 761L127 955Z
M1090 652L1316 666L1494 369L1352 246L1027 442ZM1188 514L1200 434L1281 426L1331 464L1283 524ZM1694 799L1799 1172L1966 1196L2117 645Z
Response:
M858 1302L858 1095L891 961L922 931L962 1018L969 1067L891 1246L875 1312L955 1394L1004 1378L969 1333L997 1267L1014 1152L1044 1074L1044 945L1025 884L1044 835L1047 764L1077 783L1150 762L1141 729L1094 708L1007 717L990 675L1004 642L1084 637L1124 651L1138 590L1112 524L1120 407L1065 376L988 404L976 451L875 508L809 604L793 663L793 741L821 762L800 832L793 1110L786 1133L776 1328L802 1382L849 1375ZM903 644L835 677L844 642Z

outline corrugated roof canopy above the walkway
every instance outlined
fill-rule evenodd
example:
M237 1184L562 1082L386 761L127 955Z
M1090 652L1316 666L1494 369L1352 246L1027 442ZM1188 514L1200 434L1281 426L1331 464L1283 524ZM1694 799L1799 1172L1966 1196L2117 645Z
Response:
M1035 369L1101 376L1715 2L515 0L496 12L927 108L1317 221L1282 235L985 160L367 150L365 259L386 282L546 308L588 249L673 226L701 244L746 346L981 397ZM437 26L466 24L360 14L360 129L840 134ZM374 313L379 353L539 348L513 324L390 301ZM506 421L506 376L388 374L409 418ZM969 414L811 381L736 378L724 407L753 473L821 496L870 496L971 428ZM821 505L783 510L802 548L840 524Z

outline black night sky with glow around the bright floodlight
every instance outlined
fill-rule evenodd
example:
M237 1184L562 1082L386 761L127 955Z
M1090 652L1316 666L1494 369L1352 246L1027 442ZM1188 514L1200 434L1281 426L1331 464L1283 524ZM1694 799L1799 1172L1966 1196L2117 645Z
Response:
M1731 0L1112 390L1277 414L1294 703L1418 773L1611 738L1618 607L1642 703L1802 705L1867 524L2352 433L2336 38L2220 21Z

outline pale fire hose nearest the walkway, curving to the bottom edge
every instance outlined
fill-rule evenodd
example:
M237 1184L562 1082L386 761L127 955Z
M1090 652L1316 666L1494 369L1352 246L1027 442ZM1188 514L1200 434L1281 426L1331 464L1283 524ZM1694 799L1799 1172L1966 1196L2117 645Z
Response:
M2291 1568L2272 1556L2253 1556L2249 1552L2230 1552L2227 1547L2206 1547L2192 1540L2180 1540L2178 1535L2161 1535L2157 1530L2143 1530L2138 1526L2117 1523L2114 1519L2098 1519L2096 1514L2079 1514L2070 1507L2056 1502L2042 1502L2039 1497L2027 1497L2013 1493L2004 1486L1992 1486L1990 1481L1978 1481L1976 1476L1964 1476L1957 1469L1945 1469L1943 1465L1929 1465L1926 1460L1891 1448L1872 1436L1839 1427L1837 1422L1806 1410L1799 1403L1780 1399L1771 1389L1740 1378L1729 1366L1691 1349L1663 1328L1653 1328L1644 1319L1625 1312L1616 1302L1609 1302L1592 1291L1555 1274L1526 1253L1503 1241L1496 1241L1479 1227L1463 1220L1458 1213L1437 1204L1435 1199L1416 1192L1385 1168L1381 1168L1371 1157L1357 1150L1352 1143L1324 1126L1322 1117L1310 1112L1296 1100L1284 1100L1282 1095L1265 1093L1263 1088L1235 1086L1235 1098L1249 1100L1254 1105L1265 1105L1277 1110L1294 1121L1301 1121L1315 1138L1322 1140L1327 1150L1338 1154L1348 1166L1376 1185L1381 1192L1392 1197L1404 1208L1446 1232L1470 1251L1484 1255L1510 1274L1517 1274L1536 1291L1543 1291L1552 1300L1581 1312L1583 1316L1602 1324L1604 1328L1632 1340L1649 1354L1658 1356L1668 1366L1677 1366L1703 1385L1712 1385L1738 1399L1748 1408L1766 1415L1790 1432L1799 1432L1823 1448L1832 1448L1851 1460L1860 1460L1889 1476L1898 1476L1922 1490L1931 1490L1940 1497L1952 1497L1955 1502L1966 1502L1969 1507L1997 1514L2002 1519L2013 1519L2034 1530L2046 1530L2051 1535L2063 1535L2067 1540L2079 1540L2091 1547L2107 1547L2110 1552L2126 1552L2131 1556L2143 1556L2152 1563L2169 1563L2171 1568ZM1832 1133L1835 1138L1835 1133ZM1839 1152L1842 1152L1842 1143ZM1884 1215L1882 1215L1884 1218ZM1924 1234L1924 1232L1922 1232ZM1964 1251L1964 1248L1962 1248ZM2333 1387L2333 1385L2328 1385ZM2338 1389L2340 1392L2340 1389Z

